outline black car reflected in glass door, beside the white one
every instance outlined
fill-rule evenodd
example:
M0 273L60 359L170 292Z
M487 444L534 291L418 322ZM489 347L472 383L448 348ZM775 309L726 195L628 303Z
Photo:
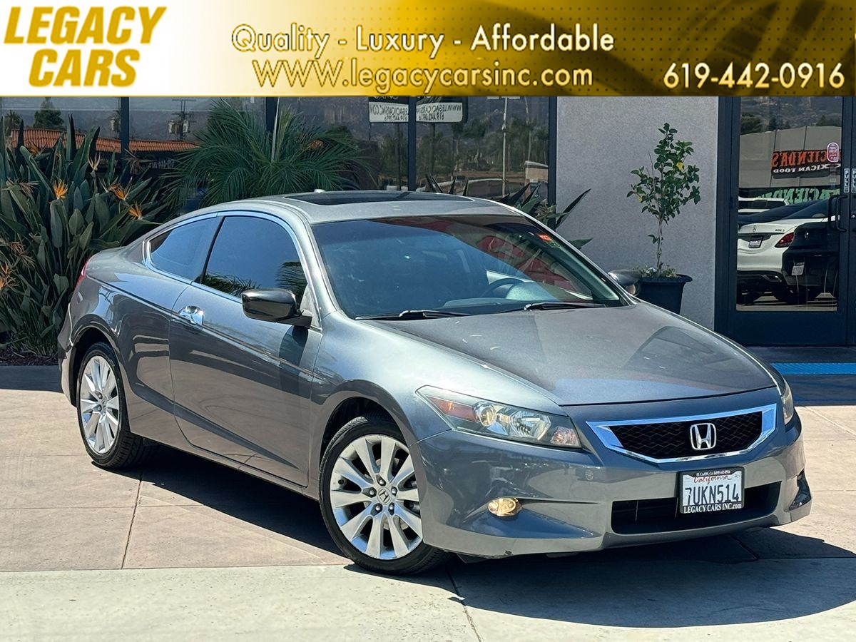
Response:
M782 274L800 302L828 292L838 297L839 233L830 221L803 223L782 253Z

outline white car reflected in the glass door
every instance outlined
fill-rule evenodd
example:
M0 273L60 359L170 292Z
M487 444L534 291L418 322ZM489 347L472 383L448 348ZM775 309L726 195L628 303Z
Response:
M770 292L784 303L801 303L820 294L817 288L797 290L788 286L782 272L785 250L803 223L827 218L827 202L812 200L771 210L740 214L737 229L738 302L752 303ZM798 269L797 266L794 270ZM793 275L800 276L800 275Z

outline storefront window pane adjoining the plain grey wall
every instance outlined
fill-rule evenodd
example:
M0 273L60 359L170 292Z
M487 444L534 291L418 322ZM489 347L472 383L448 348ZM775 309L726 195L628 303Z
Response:
M549 103L526 96L420 99L419 185L431 178L444 192L497 198L538 182L546 195Z

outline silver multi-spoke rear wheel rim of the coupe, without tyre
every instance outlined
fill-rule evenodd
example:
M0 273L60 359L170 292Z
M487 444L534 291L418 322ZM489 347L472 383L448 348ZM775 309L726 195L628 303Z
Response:
M121 419L116 375L104 357L96 354L86 362L77 398L86 443L104 455L116 443Z

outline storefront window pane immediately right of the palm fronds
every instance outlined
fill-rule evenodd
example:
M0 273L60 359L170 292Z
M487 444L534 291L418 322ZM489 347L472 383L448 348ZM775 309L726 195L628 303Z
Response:
M407 98L279 98L280 110L319 128L342 128L360 146L366 168L351 187L407 189Z

